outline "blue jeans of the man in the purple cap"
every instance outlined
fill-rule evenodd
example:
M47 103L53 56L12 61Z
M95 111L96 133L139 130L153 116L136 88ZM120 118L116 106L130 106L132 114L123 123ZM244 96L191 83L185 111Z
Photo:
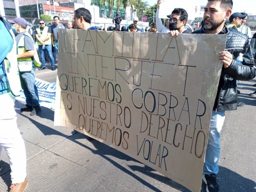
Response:
M35 85L35 66L33 64L33 69L31 72L19 72L20 74L20 84L24 91L26 97L27 105L32 107L39 107L39 97L37 88Z

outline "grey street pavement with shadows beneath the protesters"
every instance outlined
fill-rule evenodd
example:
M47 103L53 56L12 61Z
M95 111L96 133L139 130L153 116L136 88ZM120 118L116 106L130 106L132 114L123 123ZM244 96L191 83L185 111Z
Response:
M36 77L40 78L40 74ZM235 111L226 111L217 175L223 192L256 191L256 98L249 96L256 90L252 86L255 83L256 79L240 81L239 99L245 105ZM20 112L23 106L23 102L15 102L17 124L27 151L29 184L25 192L189 191L97 140L90 140L67 127L53 126L53 109L42 107L40 115L30 116L30 112ZM2 192L11 184L5 152L2 152L0 164ZM205 191L205 184L201 191Z

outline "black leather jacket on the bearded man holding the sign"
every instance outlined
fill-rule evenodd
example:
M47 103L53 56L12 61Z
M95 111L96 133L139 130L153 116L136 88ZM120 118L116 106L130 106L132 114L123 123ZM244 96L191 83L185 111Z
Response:
M205 29L192 33L207 34ZM214 110L237 109L237 85L236 80L250 81L255 77L256 66L254 64L252 50L248 38L242 33L225 28L218 34L226 34L226 51L233 55L232 64L228 68L222 67L218 92L215 98ZM243 54L242 65L237 62L239 53Z

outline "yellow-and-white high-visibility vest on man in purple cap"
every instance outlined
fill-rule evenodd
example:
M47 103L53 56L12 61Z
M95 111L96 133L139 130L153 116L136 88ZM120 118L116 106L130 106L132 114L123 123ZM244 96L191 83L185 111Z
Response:
M27 52L26 49L25 49L25 41L24 41L24 37L25 36L28 36L31 38L31 40L33 41L31 35L28 33L28 32L25 32L19 42L18 42L18 47L17 47L17 54L22 54L22 53L25 53ZM34 42L34 41L33 41ZM35 66L37 67L41 67L41 63L40 63L40 60L39 60L39 57L38 57L38 54L37 54L37 51L36 51L36 48L35 48L35 44L34 44L34 56L33 57L28 57L28 58L18 58L18 61L29 61L29 60L33 60L33 63L35 64Z

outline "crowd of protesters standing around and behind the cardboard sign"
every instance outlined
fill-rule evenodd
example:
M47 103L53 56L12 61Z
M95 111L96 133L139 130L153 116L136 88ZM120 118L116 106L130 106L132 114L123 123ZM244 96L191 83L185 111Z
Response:
M205 155L205 167L203 181L207 192L218 192L216 175L219 171L218 161L220 156L220 132L225 119L226 110L236 110L241 102L237 99L237 80L250 81L255 77L256 67L254 55L250 46L252 38L250 28L245 25L246 13L233 13L232 0L208 0L204 8L203 23L201 29L193 31L187 27L188 13L183 8L175 8L170 11L166 21L166 27L158 18L159 5L157 1L156 23L151 23L145 30L138 26L138 18L127 28L121 27L122 18L119 14L113 19L115 27L109 26L108 31L126 32L152 32L169 33L176 37L181 33L191 34L226 34L226 48L219 53L219 60L223 63L217 96L212 109L209 138ZM229 20L229 24L227 21ZM8 20L14 24L17 30L14 36L10 25L0 15L0 102L5 110L0 112L0 152L3 148L7 153L11 166L10 191L23 191L28 185L26 179L26 153L24 141L21 138L16 123L14 110L14 98L19 95L22 88L26 97L26 105L21 111L31 111L31 116L38 115L41 111L38 92L35 86L35 67L39 66L38 55L31 35L27 32L28 23L23 18ZM50 58L52 70L55 70L55 59L52 53L54 48L58 54L58 29L65 28L59 23L59 17L54 16L54 24L46 26L43 19L39 20L35 38L41 58L39 70L45 69L45 51ZM105 30L103 27L91 26L91 14L86 8L78 8L74 11L73 21L68 22L68 29ZM18 48L17 48L18 47ZM256 84L255 84L256 86ZM256 97L256 91L250 94ZM1 167L0 167L1 170Z

